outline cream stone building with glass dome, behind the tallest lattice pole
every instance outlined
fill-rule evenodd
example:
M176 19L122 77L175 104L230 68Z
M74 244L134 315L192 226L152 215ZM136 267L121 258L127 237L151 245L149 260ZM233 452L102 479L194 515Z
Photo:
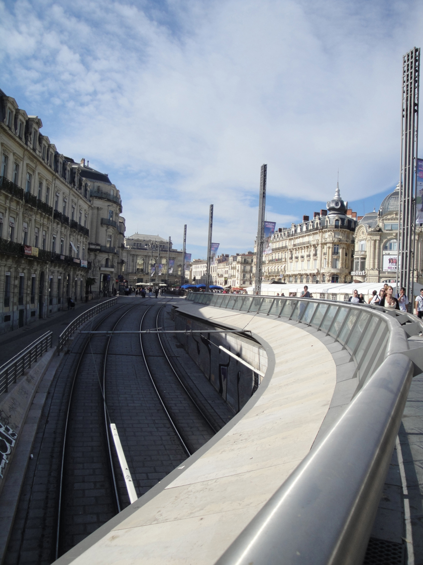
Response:
M365 214L355 232L354 268L357 282L396 281L398 250L399 185L388 194L379 210ZM416 227L416 282L423 284L423 227Z

